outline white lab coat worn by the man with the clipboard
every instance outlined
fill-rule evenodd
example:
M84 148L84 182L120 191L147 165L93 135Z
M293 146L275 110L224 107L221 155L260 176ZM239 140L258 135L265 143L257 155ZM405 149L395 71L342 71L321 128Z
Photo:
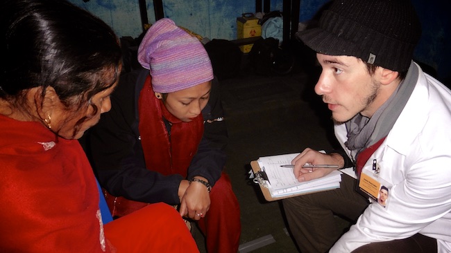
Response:
M419 67L418 67L419 68ZM373 159L380 178L393 185L386 208L372 203L330 252L351 252L372 242L416 233L451 252L451 91L419 70L416 87ZM342 147L344 124L335 127Z

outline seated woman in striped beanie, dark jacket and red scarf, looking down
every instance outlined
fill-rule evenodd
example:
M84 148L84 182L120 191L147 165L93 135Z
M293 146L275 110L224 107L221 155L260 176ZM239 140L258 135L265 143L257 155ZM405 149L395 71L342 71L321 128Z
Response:
M86 150L113 216L148 203L197 221L208 252L237 252L239 204L226 163L226 123L203 44L171 19L148 29L142 69L123 75Z

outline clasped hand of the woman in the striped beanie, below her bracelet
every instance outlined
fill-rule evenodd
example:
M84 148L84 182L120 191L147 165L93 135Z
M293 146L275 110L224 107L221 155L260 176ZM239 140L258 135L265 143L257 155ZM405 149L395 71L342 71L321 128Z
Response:
M207 181L205 178L196 176L201 180ZM182 180L183 181L183 180ZM180 183L180 186L182 183ZM180 192L180 189L179 189ZM188 216L195 221L200 220L207 214L210 209L210 193L207 187L201 182L193 181L185 190L180 200L180 215Z

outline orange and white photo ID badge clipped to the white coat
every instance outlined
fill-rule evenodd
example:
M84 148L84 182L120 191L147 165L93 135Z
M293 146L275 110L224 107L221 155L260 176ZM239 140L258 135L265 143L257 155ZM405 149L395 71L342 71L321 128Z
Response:
M386 208L389 205L389 192L392 185L380 177L382 169L382 165L378 164L376 160L373 160L372 170L362 169L359 180L359 192Z

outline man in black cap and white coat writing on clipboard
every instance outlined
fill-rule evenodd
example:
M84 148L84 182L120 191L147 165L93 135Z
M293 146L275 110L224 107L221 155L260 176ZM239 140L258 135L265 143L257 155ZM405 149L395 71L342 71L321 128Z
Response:
M298 35L317 53L315 92L343 151L307 148L294 174L355 169L339 189L283 200L302 252L451 252L451 91L412 61L420 33L407 0L335 0ZM355 224L343 234L334 214Z

